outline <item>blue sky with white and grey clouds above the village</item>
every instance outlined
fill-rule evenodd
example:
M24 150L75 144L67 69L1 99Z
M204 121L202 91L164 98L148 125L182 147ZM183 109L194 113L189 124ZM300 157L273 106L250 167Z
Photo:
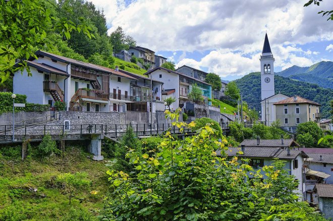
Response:
M333 21L317 13L333 0L89 0L103 10L108 33L121 26L138 46L235 80L260 71L265 33L274 71L333 60Z

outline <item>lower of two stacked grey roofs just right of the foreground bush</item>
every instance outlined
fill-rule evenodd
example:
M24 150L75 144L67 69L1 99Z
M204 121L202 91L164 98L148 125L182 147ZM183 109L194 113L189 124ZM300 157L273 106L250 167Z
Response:
M228 156L236 156L237 153L241 151L241 148L229 148L226 151ZM217 150L216 155L220 156L221 151ZM295 159L298 155L307 157L307 155L298 150L290 150L290 156L288 156L287 150L281 148L267 148L267 147L248 147L240 157L245 158L278 158L278 159Z

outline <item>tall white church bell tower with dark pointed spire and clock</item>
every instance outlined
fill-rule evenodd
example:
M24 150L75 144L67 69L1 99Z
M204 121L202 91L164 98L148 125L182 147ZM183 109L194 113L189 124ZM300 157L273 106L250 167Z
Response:
M270 50L267 33L260 56L261 100L275 95L274 91L274 57Z

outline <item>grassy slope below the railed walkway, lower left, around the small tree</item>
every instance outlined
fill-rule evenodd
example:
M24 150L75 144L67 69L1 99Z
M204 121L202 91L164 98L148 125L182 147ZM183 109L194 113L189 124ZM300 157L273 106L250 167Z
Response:
M0 220L96 220L108 190L105 162L93 161L90 154L73 146L67 147L63 157L29 157L22 162L20 148L0 149ZM86 172L92 181L71 205L55 185L59 174L69 172ZM91 194L92 190L97 194Z

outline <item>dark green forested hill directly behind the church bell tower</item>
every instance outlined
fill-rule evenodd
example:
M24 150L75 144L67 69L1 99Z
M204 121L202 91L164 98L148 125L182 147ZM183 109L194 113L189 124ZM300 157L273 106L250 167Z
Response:
M320 112L323 117L330 117L329 101L333 99L333 90L319 87L316 84L310 84L301 81L295 81L281 76L275 76L275 93L282 93L287 96L298 95L314 102L321 104ZM252 72L241 79L235 81L243 99L248 103L249 107L260 110L261 86L260 72Z

